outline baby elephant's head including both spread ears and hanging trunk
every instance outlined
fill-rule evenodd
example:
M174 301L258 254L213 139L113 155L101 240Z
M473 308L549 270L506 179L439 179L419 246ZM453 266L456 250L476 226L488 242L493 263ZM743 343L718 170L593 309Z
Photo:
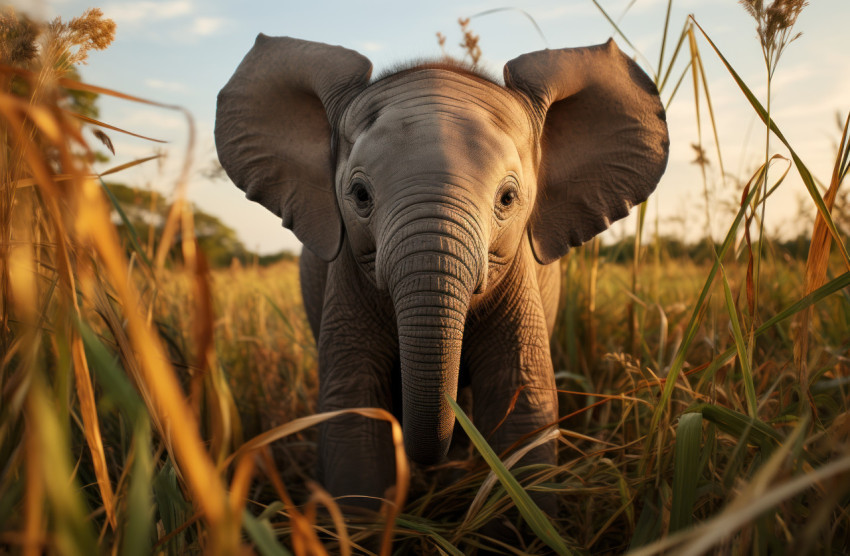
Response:
M222 166L395 308L405 446L445 453L461 340L528 253L549 264L626 216L667 163L658 93L614 44L544 50L504 85L439 62L370 80L341 47L260 35L218 98ZM343 247L345 246L345 247Z

